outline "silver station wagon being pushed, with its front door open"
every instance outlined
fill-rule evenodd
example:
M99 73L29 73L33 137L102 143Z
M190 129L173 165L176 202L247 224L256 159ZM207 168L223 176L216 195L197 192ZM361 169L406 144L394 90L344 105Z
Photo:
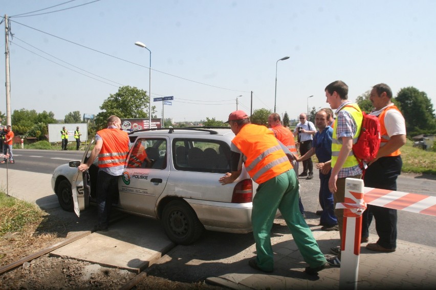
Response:
M193 243L204 229L250 232L257 184L245 168L231 184L218 181L230 172L233 137L230 129L213 127L129 133L132 146L118 180L114 206L161 220L168 237L182 245ZM87 172L77 171L88 160L92 144L81 161L58 166L52 176L60 206L78 216L96 201L97 159Z

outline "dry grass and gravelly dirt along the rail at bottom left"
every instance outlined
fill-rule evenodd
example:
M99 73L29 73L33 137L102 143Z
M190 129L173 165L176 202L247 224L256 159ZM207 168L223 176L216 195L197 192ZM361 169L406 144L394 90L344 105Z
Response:
M89 230L91 226L79 224L74 215L58 215L56 211L47 214L44 222L26 232L0 237L0 268L66 240L72 237L71 233L80 233L77 230ZM126 270L45 254L0 275L0 289L120 289L136 276ZM204 281L187 283L149 275L139 277L142 279L133 289L223 289Z

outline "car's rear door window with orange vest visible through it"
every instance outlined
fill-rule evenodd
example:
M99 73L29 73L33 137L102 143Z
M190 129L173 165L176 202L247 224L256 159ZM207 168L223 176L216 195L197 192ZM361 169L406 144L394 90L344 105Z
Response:
M127 168L166 168L166 140L138 138L130 150Z

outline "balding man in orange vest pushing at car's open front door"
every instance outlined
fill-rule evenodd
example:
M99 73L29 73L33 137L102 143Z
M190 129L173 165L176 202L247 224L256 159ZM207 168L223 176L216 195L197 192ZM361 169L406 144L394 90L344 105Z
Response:
M121 130L120 118L114 115L107 119L107 128L97 132L95 140L90 157L86 163L79 165L78 170L88 170L98 157L98 224L95 225L94 231L107 231L113 197L118 194L118 178L124 171L130 141L127 133Z

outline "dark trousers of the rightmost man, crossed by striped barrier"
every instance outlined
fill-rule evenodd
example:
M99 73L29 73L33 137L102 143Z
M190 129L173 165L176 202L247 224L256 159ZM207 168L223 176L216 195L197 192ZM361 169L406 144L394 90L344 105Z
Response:
M401 156L382 157L371 164L365 172L363 182L366 187L397 190L397 177L401 174ZM368 236L372 215L376 221L379 236L377 244L387 249L397 247L397 210L368 205L362 215L362 236Z

